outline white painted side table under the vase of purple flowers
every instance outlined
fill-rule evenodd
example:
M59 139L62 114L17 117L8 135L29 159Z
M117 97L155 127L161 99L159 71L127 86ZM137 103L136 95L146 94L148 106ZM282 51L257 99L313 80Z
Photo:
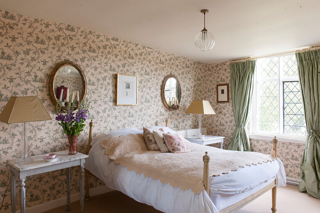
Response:
M15 160L8 161L11 174L11 211L16 212L16 176L20 181L20 210L26 212L26 189L25 179L30 175L67 168L67 211L70 211L70 186L71 186L71 167L80 166L80 212L84 211L84 165L86 154L77 153L69 155L69 150L55 152L57 160L52 162L44 161L45 154L30 156L33 161L27 163L16 163Z

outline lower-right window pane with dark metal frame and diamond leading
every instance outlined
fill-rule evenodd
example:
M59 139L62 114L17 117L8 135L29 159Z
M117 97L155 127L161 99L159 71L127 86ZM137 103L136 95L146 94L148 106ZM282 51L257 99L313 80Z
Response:
M299 81L283 82L283 133L305 135L306 123Z

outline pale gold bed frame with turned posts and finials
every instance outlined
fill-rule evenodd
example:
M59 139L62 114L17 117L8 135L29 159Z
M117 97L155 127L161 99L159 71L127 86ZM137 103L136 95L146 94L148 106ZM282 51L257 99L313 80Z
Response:
M90 148L91 148L91 141L92 141L92 128L93 128L93 120L89 123L89 139L88 139L88 147L87 147L87 154L89 154ZM165 126L168 126L168 119L165 120ZM272 140L273 142L273 148L275 153L275 157L277 156L277 143L278 140L276 137ZM204 189L209 195L209 162L210 162L210 157L207 155L208 153L205 152L205 155L203 156L203 162L204 162L204 172L203 172L203 183L204 183ZM93 175L89 170L84 169L85 171L85 195L84 195L84 200L89 201L89 184L90 184L90 177L95 177L102 181L100 178L96 177ZM102 181L103 182L103 181ZM232 204L231 206L228 206L222 210L220 210L220 213L230 213L230 212L235 212L236 210L242 208L244 205L250 203L254 199L258 198L260 195L263 193L269 191L270 189L272 190L272 213L276 212L276 190L277 190L277 185L278 185L278 177L276 176L274 182L270 183L269 185L265 186L264 188L260 189L259 191L249 195L248 197L242 199L241 201L236 202L235 204Z

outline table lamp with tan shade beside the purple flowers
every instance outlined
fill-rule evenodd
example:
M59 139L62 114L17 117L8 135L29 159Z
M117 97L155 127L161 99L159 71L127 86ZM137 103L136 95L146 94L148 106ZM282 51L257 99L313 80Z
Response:
M24 123L22 156L16 159L17 163L32 161L28 157L28 122L46 120L52 120L52 118L45 110L38 96L11 96L0 114L0 121L5 123Z

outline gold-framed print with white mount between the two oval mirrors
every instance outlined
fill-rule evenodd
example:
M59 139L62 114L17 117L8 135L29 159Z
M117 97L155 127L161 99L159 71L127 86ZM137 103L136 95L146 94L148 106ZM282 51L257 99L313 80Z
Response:
M116 105L138 105L138 76L117 74Z

